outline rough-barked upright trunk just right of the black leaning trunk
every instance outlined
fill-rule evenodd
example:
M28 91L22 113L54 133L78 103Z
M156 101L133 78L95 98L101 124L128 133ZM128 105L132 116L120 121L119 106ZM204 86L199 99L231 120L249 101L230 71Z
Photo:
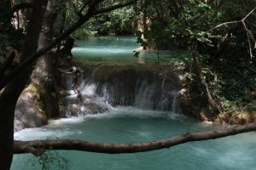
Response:
M38 40L38 48L44 48L49 42L52 41L54 32L54 23L57 17L56 10L53 5L54 1L48 3L45 15L42 31ZM44 97L42 102L44 105L44 111L47 116L59 116L59 109L57 105L57 99L53 93L54 89L54 59L49 52L41 56L36 64L34 71L32 72L32 82L38 84L42 89Z

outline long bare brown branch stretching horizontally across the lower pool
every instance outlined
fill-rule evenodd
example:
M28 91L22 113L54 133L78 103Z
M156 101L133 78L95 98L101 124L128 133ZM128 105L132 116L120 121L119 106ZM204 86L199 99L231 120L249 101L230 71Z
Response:
M122 154L122 153L137 153L150 150L161 150L170 148L178 144L188 142L218 139L226 136L236 135L238 133L247 133L256 130L256 123L251 123L243 126L235 126L224 130L213 130L203 133L184 133L183 135L175 136L170 139L162 139L157 141L136 143L136 144L107 144L87 142L83 140L57 139L57 140L34 140L34 141L19 141L14 144L15 154L37 153L35 150L79 150L105 154Z

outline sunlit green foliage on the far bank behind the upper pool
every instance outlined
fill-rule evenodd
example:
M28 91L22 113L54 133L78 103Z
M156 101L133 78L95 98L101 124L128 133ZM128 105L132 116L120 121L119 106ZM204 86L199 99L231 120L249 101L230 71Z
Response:
M67 10L67 23L72 23L77 16L72 9ZM74 36L88 38L96 35L131 35L136 28L136 14L133 7L119 8L110 13L99 14L88 21Z

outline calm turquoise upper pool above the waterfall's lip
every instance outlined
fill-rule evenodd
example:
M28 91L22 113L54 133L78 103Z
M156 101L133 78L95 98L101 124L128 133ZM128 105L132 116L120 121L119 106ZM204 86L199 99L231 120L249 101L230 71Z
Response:
M82 62L101 62L118 64L146 64L158 62L156 51L141 51L138 58L134 50L140 48L136 37L97 37L87 41L75 42L73 56ZM168 62L172 56L183 54L179 51L160 51L160 62Z

